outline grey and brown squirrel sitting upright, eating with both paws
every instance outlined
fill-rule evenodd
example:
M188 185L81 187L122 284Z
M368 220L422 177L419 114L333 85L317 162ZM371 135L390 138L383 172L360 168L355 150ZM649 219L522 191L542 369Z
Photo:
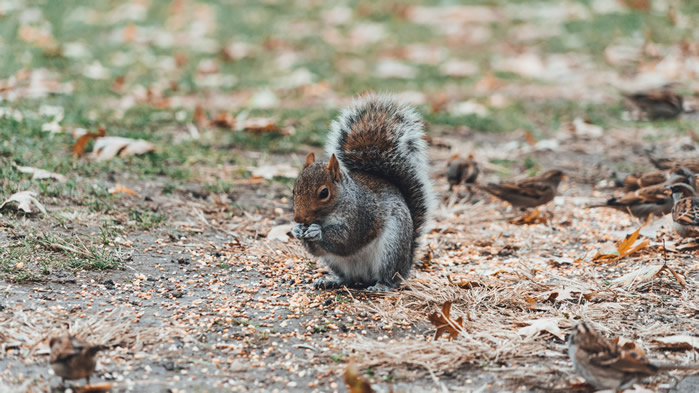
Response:
M327 162L309 153L294 184L292 234L343 285L387 291L407 280L436 196L417 111L368 94L330 126Z

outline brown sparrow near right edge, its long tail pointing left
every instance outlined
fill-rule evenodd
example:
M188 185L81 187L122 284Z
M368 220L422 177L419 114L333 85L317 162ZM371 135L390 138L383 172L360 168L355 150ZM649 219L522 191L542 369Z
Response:
M676 168L665 183L639 188L636 191L627 192L624 196L612 197L604 204L590 207L609 207L643 220L649 216L662 217L670 214L675 204L672 191L667 186L678 182L686 182L691 187L696 187L696 179L689 170Z

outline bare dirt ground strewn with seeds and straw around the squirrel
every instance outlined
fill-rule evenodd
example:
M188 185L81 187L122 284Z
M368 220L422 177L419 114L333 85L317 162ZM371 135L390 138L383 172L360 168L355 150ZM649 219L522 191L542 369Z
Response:
M508 143L517 146L508 153L515 160L522 151L536 149L518 141L517 135L508 140L453 132L433 135L435 145L475 143L481 147L476 149L479 157ZM622 142L629 136L619 132L611 137ZM661 239L666 244L676 239L667 226L657 224L657 238L648 234L653 245L637 254L608 264L586 259L641 224L623 213L585 208L612 192L593 186L611 179L614 167L607 151L580 152L590 148L590 142L571 136L555 151L538 151L543 167L563 168L571 180L544 209L551 215L548 223L525 226L506 222L517 212L477 190L449 193L440 176L449 150L433 147L432 167L443 202L426 242L430 257L423 253L417 264L411 280L416 286L386 295L315 291L311 283L324 269L296 241L266 238L270 228L291 220L288 186L248 185L227 196L240 206L258 206L251 214L221 207L213 194L202 197L202 190L164 196L158 182L139 184L135 189L142 197L120 203L167 211L167 225L122 235L118 241L125 262L118 270L52 275L37 284L6 282L2 313L13 322L4 326L23 332L13 337L31 341L60 331L58 319L70 323L71 332L87 333L103 343L128 342L100 357L93 378L109 382L115 392L344 391L348 361L364 365L365 375L379 391L387 391L389 385L399 392L573 389L579 379L562 335L542 332L517 339L514 334L488 342L481 334L500 319L510 326L498 330L517 331L527 321L560 317L562 334L575 319L590 319L609 326L608 333L640 339L652 360L694 362L696 352L668 351L653 339L658 334L692 335L699 328L696 251L661 252ZM639 166L647 166L643 157L637 160ZM488 172L483 181L492 177ZM128 175L116 176L120 183L134 184L129 180ZM22 225L38 226L41 221L27 217ZM71 233L70 228L55 231L59 238ZM3 232L4 247L12 246L14 232ZM630 271L663 261L688 287L670 275L623 287L610 285ZM483 287L462 289L446 277ZM546 302L547 294L562 294L566 288L567 298ZM594 294L589 301L581 298L587 292ZM527 306L526 296L536 299L537 306ZM434 329L427 315L439 307L439 297L453 300L458 313L472 320L463 336L492 346L496 357L462 348L463 356L454 358L449 348L453 344L446 339L432 342ZM20 328L22 324L26 326ZM115 324L128 333L102 333ZM496 337L498 333L493 332ZM425 351L424 359L418 354L396 359L382 353L411 343L416 351ZM56 386L58 378L51 376L43 356L45 345L27 348L21 342L5 342L4 379L15 385ZM443 356L449 364L432 356ZM695 391L697 383L696 377L652 380L660 391L672 392Z

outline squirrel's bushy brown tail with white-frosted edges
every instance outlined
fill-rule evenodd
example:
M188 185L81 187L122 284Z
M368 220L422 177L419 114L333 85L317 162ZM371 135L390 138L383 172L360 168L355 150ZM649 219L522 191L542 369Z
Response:
M405 198L414 237L424 234L435 205L424 125L417 111L388 95L369 94L330 126L326 150L347 170L386 179Z

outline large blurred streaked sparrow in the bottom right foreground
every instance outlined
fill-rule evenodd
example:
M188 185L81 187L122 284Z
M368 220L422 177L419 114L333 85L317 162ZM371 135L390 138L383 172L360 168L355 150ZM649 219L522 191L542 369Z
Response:
M659 367L646 359L634 343L619 345L585 322L568 337L568 356L575 372L597 389L625 389L639 379L655 375Z

